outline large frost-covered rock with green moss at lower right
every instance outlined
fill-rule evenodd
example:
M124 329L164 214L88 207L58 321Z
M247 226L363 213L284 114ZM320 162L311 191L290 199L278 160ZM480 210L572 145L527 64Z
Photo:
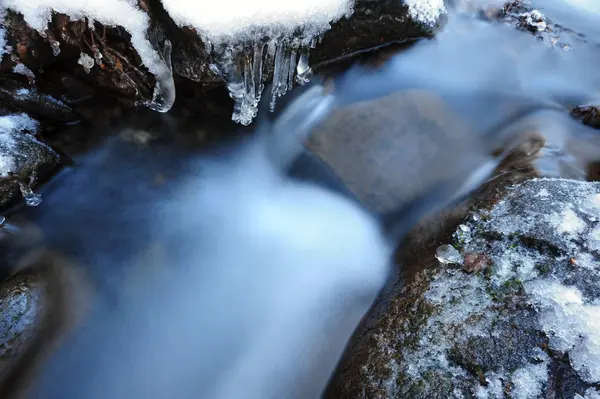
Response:
M418 273L328 397L597 394L600 183L528 180L481 211L465 222L472 239L452 244L466 259L485 256L485 271L440 264Z

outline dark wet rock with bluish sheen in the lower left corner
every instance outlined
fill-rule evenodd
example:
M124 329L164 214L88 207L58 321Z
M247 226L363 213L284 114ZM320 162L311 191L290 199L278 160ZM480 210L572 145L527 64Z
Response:
M37 367L88 311L88 289L87 279L71 262L36 250L21 259L17 274L0 282L3 398L24 397Z

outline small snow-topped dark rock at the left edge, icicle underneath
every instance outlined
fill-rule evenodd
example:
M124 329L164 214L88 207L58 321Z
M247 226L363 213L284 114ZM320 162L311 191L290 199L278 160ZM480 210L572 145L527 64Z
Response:
M38 122L25 114L0 116L0 207L21 193L30 204L39 203L31 189L38 176L58 165L58 154L35 138L38 129Z

